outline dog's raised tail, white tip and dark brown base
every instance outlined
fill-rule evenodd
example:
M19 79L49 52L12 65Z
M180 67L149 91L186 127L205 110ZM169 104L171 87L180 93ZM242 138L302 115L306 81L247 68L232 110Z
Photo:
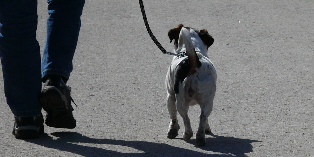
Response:
M182 43L183 41L183 43ZM188 75L192 75L196 72L196 70L202 66L202 63L198 59L198 55L196 54L194 45L192 43L190 31L186 28L182 27L180 35L179 35L179 42L178 47L182 47L183 44L185 45L187 58L189 60L189 72Z

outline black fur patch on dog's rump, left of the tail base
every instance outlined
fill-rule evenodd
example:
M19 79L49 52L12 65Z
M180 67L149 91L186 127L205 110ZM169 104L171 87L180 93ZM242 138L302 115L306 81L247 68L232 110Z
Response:
M176 94L179 93L179 83L183 82L189 73L189 70L190 70L189 64L190 64L189 60L188 60L188 58L186 58L186 59L182 60L176 67L176 70L175 70L175 88L174 88L174 91Z

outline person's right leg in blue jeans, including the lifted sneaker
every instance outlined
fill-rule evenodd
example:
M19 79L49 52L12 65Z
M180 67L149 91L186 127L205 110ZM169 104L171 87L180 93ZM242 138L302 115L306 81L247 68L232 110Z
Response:
M72 71L72 60L81 26L80 16L85 0L47 0L47 37L41 63L40 103L46 111L46 125L75 128L70 92L66 85Z

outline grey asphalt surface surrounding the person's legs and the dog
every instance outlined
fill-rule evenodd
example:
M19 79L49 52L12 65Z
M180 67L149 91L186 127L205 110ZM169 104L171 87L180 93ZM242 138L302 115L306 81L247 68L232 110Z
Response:
M46 2L38 1L37 39L44 45ZM178 24L207 29L217 92L206 146L194 135L167 139L162 54L144 26L138 1L86 0L68 85L77 127L51 128L18 140L0 80L0 156L314 156L314 1L144 0L150 27L173 50ZM2 74L2 72L1 72ZM44 113L44 111L43 111Z

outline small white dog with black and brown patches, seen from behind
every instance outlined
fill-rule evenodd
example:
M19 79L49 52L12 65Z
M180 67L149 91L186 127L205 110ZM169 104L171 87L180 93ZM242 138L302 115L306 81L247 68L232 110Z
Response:
M187 115L189 106L199 104L201 114L196 133L196 143L204 146L205 133L210 133L208 116L213 108L216 92L217 74L213 63L209 60L207 49L214 39L206 29L198 30L183 27L182 24L168 32L170 42L174 40L175 52L186 52L187 56L174 56L166 75L167 107L170 125L167 138L175 138L180 126L177 111L183 118L183 139L193 136L190 119Z

